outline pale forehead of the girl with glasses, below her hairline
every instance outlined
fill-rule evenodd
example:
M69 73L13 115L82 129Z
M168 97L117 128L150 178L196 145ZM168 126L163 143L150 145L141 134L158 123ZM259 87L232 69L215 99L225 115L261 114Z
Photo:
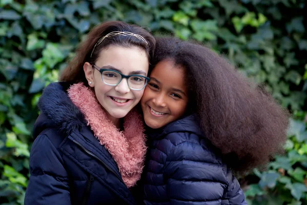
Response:
M112 66L127 75L134 71L147 73L149 63L146 52L141 48L109 46L100 51L95 65L98 67Z

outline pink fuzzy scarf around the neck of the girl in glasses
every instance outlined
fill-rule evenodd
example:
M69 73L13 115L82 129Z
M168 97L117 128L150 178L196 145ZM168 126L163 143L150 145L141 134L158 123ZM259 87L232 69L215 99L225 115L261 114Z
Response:
M124 131L120 132L101 108L94 92L83 83L72 85L68 96L84 114L100 144L113 156L126 186L133 187L141 177L146 153L142 116L130 111L124 117Z

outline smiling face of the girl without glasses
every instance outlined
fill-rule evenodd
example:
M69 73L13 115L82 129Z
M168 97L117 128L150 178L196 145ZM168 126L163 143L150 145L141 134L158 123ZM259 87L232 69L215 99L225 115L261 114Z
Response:
M174 65L171 60L163 60L153 68L141 99L148 127L164 127L185 113L188 89L184 79L184 68Z

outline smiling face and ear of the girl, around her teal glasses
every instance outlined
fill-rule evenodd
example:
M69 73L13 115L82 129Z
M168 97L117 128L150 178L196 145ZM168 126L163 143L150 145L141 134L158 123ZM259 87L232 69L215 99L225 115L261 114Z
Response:
M138 47L121 46L103 49L95 65L103 69L117 70L124 75L143 76L147 76L149 66L145 51ZM97 100L115 124L139 103L144 89L130 90L125 78L117 86L109 86L103 83L100 72L91 64L85 63L83 69L89 85L94 87Z

